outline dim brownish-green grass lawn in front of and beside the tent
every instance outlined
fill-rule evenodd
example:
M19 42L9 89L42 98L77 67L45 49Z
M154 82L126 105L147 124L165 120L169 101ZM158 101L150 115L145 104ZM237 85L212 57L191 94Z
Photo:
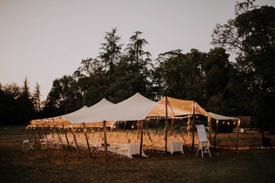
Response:
M7 128L8 129L4 129ZM275 149L229 150L218 148L219 156L211 148L212 158L204 158L188 152L184 154L156 155L149 157L124 158L104 155L93 158L89 153L76 150L40 149L21 152L22 142L15 142L25 126L0 126L0 173L1 182L274 182ZM229 134L235 141L236 133ZM253 133L261 143L261 134ZM214 136L214 134L213 134ZM270 137L275 144L275 135ZM22 139L21 139L22 140ZM219 134L217 145L234 147L227 134ZM239 134L239 147L259 146L247 132ZM94 156L94 154L93 154Z

